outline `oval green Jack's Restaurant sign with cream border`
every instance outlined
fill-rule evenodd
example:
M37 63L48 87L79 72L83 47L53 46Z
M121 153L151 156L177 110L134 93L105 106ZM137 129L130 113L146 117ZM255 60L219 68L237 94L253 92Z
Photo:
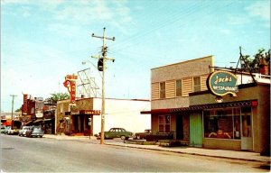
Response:
M216 96L225 96L231 94L237 96L238 77L228 71L215 71L210 74L208 78L208 87L210 91Z

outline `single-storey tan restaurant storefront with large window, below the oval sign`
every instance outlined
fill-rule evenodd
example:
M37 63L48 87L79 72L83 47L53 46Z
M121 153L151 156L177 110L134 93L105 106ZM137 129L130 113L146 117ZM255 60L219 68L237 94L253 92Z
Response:
M237 96L223 96L221 103L208 92L190 95L190 109L199 110L202 147L270 153L270 84L239 86Z

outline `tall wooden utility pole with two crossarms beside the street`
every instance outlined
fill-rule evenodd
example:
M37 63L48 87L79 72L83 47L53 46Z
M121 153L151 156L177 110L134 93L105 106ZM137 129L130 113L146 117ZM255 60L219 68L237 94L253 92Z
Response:
M107 38L106 37L106 28L104 28L103 36L96 36L92 33L92 37L102 39L103 40L103 47L102 47L102 56L91 56L92 58L98 59L98 70L103 71L102 73L102 110L101 110L101 125L100 125L100 144L104 144L105 139L105 69L106 69L106 61L112 60L113 62L115 59L107 58L107 47L106 47L106 40L115 41L115 37Z

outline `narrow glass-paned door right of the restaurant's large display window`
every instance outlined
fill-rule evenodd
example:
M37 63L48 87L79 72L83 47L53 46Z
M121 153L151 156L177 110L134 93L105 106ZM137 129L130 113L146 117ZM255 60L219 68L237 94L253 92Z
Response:
M248 109L241 113L241 150L253 150L251 115Z

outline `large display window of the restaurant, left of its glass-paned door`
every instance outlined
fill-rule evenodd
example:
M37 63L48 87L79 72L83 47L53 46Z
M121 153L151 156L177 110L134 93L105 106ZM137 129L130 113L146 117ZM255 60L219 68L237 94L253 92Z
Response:
M203 112L204 137L240 139L240 112L238 108Z

